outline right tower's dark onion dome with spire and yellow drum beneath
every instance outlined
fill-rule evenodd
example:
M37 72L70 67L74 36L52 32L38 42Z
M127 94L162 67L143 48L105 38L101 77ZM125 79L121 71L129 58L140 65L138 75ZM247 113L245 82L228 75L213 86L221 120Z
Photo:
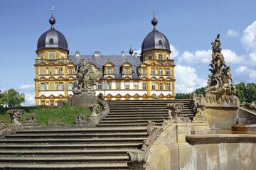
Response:
M155 18L155 11L153 12L154 18L151 20L151 23L154 28L146 35L146 38L144 38L142 42L142 56L144 59L146 59L146 56L148 56L147 58L149 59L158 59L156 52L164 52L162 59L169 59L169 55L171 54L169 40L163 33L156 29L158 21Z

